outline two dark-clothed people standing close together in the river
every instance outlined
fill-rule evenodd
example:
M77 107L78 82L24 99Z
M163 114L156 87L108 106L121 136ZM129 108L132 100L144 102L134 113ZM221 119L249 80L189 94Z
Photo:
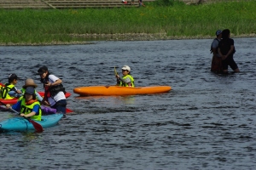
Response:
M236 53L234 40L230 38L230 30L216 31L216 38L211 45L212 66L211 71L218 73L227 73L230 65L231 69L239 72L239 68L233 58Z

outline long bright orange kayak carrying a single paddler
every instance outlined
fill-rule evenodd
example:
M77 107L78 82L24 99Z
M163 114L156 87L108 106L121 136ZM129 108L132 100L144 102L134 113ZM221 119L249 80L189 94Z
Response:
M137 87L127 88L120 86L90 86L73 88L73 93L81 96L88 95L136 95L136 94L161 94L169 92L170 86L152 86L152 87Z

